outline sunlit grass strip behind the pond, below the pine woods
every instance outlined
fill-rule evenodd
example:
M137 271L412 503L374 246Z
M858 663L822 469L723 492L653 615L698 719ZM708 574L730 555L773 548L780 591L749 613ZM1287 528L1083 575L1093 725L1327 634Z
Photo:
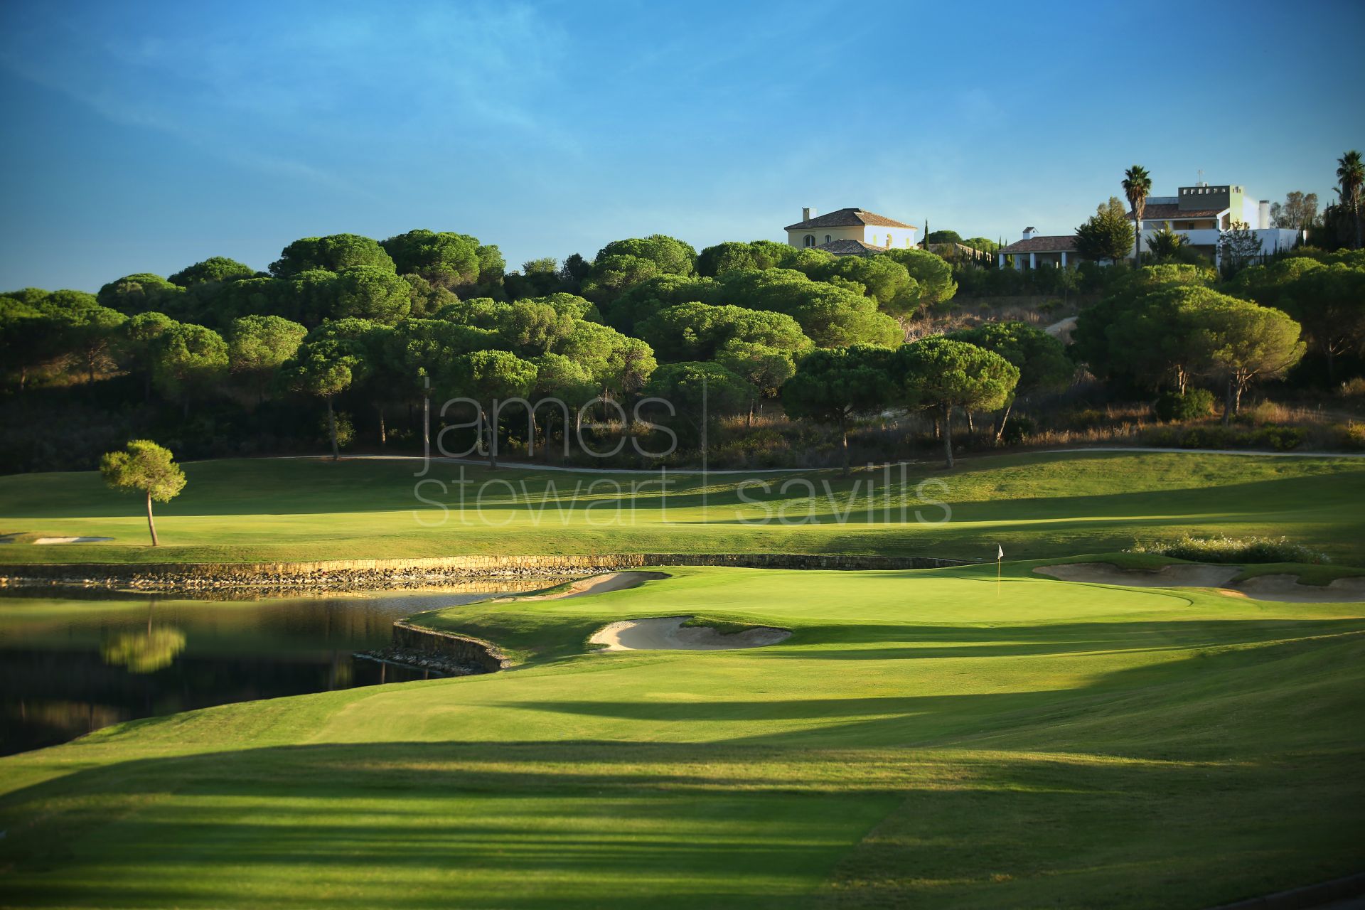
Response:
M880 471L852 479L829 471L706 480L670 475L666 493L654 483L637 487L635 497L628 495L632 483L657 478L438 464L430 479L445 484L445 493L435 483L419 493L441 506L415 498L415 469L412 461L375 460L188 464L186 493L160 506L164 546L156 548L147 546L141 503L106 490L96 473L5 476L0 533L115 542L0 544L0 562L726 551L990 559L996 543L1007 558L1035 558L1117 551L1134 540L1189 533L1287 536L1335 562L1365 563L1360 458L1035 453L972 458L954 472L909 465L904 479L897 468L890 486ZM461 476L467 483L459 483ZM479 512L470 499L489 480L495 483ZM767 480L771 493L741 490L745 480ZM938 502L951 509L950 521L942 521L946 512Z

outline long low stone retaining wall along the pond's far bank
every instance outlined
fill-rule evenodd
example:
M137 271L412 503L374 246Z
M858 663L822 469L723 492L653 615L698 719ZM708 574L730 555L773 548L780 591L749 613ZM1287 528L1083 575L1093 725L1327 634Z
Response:
M633 553L595 555L459 555L414 559L328 559L250 563L0 565L0 584L59 581L132 588L306 587L366 589L431 585L464 578L592 574L640 566L749 569L938 569L968 565L936 557L867 557L770 553Z

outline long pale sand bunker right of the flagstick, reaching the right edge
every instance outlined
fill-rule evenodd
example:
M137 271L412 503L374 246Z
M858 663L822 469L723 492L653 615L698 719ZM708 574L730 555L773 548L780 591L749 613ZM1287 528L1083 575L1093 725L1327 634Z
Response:
M1330 585L1299 584L1298 576L1257 576L1228 584L1242 573L1239 566L1173 563L1160 569L1119 569L1110 562L1067 562L1037 566L1033 572L1063 581L1121 584L1130 588L1216 588L1230 598L1256 598L1286 603L1365 602L1365 576L1336 578Z

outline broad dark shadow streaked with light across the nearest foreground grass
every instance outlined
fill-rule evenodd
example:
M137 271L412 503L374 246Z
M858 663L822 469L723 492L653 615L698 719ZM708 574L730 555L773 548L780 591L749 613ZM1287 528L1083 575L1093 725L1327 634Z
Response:
M1256 876L1349 866L1360 820L1332 805L1339 771L733 744L276 746L11 794L0 881L23 906L790 907L833 876L841 899L895 892L894 906L1033 906L1040 887L1097 906L1126 885L1143 899L1123 906L1197 907L1272 890Z

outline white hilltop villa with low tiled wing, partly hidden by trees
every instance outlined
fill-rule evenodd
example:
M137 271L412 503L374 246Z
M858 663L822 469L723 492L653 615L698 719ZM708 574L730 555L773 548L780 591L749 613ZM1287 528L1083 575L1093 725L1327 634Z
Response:
M1272 228L1269 224L1269 201L1253 199L1245 188L1237 186L1211 187L1200 183L1194 187L1181 187L1174 196L1148 196L1143 210L1143 250L1158 231L1170 228L1185 235L1189 246L1209 261L1218 263L1218 244L1226 231L1238 224L1252 228L1261 243L1263 254L1289 250L1302 235L1289 228ZM1132 218L1129 213L1129 218ZM1044 236L1036 228L1024 228L1024 237L1007 247L1001 247L999 266L1013 259L1016 269L1036 269L1039 266L1067 266L1080 262L1076 252L1076 235Z

